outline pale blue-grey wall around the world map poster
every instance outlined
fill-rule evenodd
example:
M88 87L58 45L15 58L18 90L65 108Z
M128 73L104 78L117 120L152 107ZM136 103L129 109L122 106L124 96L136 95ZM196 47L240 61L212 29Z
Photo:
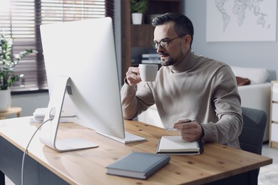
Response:
M207 43L205 41L206 1L185 0L183 10L185 15L191 19L195 27L195 36L192 44L192 50L195 51L197 55L203 55L221 60L228 65L267 68L270 73L269 80L277 79L277 41Z

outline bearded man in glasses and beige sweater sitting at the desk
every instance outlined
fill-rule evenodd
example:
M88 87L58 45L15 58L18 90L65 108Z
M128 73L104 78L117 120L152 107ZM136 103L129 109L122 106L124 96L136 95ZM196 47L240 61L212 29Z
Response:
M153 20L153 46L162 67L154 82L141 82L130 67L121 89L123 115L133 119L153 104L165 128L174 127L189 142L203 139L240 148L242 112L231 68L191 51L194 28L182 14L167 13Z

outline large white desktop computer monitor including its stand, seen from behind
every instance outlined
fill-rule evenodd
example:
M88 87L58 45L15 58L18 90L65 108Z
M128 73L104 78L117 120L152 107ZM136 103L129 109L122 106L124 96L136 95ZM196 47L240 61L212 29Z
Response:
M45 120L51 120L41 127L41 142L60 152L98 147L83 139L56 139L63 116L124 138L112 19L44 24L41 41L50 95Z

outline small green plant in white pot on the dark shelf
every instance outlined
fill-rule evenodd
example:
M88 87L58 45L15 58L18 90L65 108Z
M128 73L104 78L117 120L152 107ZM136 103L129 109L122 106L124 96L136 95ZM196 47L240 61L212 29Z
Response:
M130 0L130 11L133 24L141 24L143 14L148 10L148 0Z

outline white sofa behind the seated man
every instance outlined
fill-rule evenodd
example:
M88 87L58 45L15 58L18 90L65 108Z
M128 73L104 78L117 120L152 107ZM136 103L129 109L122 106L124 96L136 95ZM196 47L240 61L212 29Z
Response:
M267 126L264 131L264 142L269 140L269 108L271 83L267 82L269 73L265 68L242 68L230 66L236 77L243 79L246 84L238 86L242 107L250 107L257 110L264 110L267 113ZM239 83L239 82L238 82ZM142 84L138 84L138 88ZM145 122L157 127L163 127L158 115L156 105L148 108L138 115L138 121Z

